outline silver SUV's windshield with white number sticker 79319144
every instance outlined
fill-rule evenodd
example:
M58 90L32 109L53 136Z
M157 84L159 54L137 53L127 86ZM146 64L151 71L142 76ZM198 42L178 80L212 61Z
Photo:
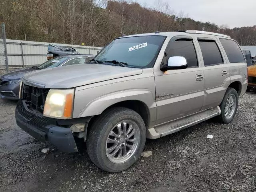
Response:
M165 36L136 36L113 40L94 59L118 61L128 67L150 68L162 47Z

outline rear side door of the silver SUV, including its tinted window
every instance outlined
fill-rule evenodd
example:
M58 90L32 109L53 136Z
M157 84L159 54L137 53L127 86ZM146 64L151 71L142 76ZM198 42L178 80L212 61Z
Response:
M221 103L226 92L225 84L229 82L229 68L214 37L198 37L197 40L204 63L204 110Z

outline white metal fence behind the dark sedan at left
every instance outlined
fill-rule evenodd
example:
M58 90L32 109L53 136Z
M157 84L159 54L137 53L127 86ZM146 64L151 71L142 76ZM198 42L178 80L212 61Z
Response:
M6 46L9 68L21 68L26 66L42 64L47 60L46 54L49 44L60 46L72 46L81 54L95 55L98 51L102 49L101 47L7 39ZM0 55L0 57L4 56ZM0 68L5 68L5 64L0 63Z

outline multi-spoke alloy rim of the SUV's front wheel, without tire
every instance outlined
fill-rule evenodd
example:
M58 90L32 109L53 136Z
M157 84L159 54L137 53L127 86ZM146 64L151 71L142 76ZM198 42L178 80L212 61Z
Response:
M140 143L140 130L131 120L116 124L106 140L106 155L116 164L124 163L136 152Z

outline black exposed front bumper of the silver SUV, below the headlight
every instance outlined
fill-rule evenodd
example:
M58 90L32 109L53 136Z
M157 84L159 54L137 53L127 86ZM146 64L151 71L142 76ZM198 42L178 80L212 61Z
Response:
M26 109L22 108L21 105L23 106L19 101L15 110L16 123L20 128L42 142L50 142L63 152L78 152L70 128L50 124L50 121L42 120L40 116L24 111Z

